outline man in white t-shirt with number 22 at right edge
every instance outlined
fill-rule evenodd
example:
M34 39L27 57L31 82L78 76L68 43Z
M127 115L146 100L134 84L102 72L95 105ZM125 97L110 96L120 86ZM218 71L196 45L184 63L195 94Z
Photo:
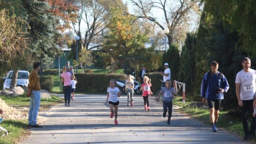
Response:
M244 128L244 140L249 140L255 136L256 118L252 117L251 126L248 126L248 117L252 116L253 96L256 92L256 71L250 69L251 60L248 57L242 60L243 70L237 73L236 94L238 105L241 107L242 124Z

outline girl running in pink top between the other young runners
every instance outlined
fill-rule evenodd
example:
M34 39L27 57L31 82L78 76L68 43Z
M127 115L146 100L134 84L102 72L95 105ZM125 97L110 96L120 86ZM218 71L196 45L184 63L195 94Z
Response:
M143 84L141 85L140 90L143 90L142 93L142 97L144 100L144 109L147 111L150 111L150 107L149 107L149 99L150 99L150 95L152 94L150 87L151 87L151 83L150 83L151 79L149 79L147 76L143 77Z

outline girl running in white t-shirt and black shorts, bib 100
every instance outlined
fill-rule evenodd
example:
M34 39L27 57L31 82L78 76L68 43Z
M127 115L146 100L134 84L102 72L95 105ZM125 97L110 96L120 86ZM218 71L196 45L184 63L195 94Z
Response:
M109 101L110 104L110 118L112 118L114 116L115 113L115 125L118 125L118 121L117 121L117 117L118 117L118 105L119 105L119 97L121 95L121 91L119 91L119 89L116 87L116 80L111 79L110 80L110 87L108 88L107 92L108 92L108 96L107 96L107 100L106 103Z

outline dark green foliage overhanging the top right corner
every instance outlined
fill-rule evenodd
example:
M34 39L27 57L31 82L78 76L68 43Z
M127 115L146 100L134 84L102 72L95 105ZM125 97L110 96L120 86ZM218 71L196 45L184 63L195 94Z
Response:
M256 1L255 0L202 0L205 10L211 15L219 15L231 26L231 32L237 30L239 39L236 48L256 56Z

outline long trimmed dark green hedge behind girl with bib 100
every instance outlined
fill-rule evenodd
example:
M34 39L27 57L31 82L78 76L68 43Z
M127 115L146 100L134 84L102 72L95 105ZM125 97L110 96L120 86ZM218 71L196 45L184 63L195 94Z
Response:
M110 80L126 80L126 74L91 74L91 73L75 73L77 91L85 92L106 92L110 86Z

